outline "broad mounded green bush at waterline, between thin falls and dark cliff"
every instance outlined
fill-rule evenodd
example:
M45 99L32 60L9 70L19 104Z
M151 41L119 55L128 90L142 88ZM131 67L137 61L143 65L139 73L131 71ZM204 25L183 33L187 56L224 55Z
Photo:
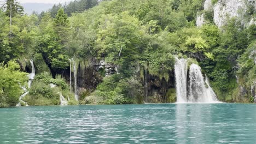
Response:
M142 103L143 88L134 78L121 79L120 75L105 77L95 92L85 97L86 104Z

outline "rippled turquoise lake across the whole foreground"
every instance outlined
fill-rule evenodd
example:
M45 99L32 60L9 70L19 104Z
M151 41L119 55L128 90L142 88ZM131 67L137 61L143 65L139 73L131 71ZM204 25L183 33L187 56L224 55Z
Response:
M255 135L253 104L0 109L0 143L255 143Z

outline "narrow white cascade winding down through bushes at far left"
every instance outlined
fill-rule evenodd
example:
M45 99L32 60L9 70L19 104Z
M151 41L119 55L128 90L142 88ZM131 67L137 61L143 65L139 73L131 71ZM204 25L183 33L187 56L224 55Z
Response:
M28 82L27 82L27 85L28 85L28 88L31 87L31 83L32 83L32 80L34 79L34 76L36 75L36 68L34 68L34 63L33 63L33 60L30 59L30 63L31 63L31 68L32 68L32 72L30 74L27 75L28 77ZM29 93L26 89L26 87L22 87L22 89L25 91L24 94L20 95L20 98L19 98L19 103L16 105L16 106L21 106L21 102L22 103L25 103L26 106L27 103L25 101L23 101L22 99Z

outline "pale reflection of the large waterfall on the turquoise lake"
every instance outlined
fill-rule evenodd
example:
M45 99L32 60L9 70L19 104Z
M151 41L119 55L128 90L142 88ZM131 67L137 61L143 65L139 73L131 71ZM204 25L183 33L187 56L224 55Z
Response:
M177 104L177 143L213 142L212 137L206 134L211 130L211 106L203 107L200 104ZM210 107L210 108L209 108Z

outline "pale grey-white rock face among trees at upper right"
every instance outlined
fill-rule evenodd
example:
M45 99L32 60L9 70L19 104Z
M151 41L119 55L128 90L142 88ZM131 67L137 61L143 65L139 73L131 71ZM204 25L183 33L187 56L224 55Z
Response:
M218 27L224 26L232 17L240 19L245 27L256 24L255 9L255 0L218 0L214 5L211 0L206 0L204 4L205 11L213 10L213 21ZM203 23L205 20L201 14L196 18L196 25L200 27Z

